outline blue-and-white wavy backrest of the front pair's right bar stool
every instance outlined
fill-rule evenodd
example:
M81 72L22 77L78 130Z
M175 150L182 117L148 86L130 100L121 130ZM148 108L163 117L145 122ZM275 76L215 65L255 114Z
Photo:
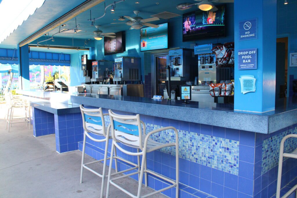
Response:
M108 110L111 124L111 136L114 141L132 148L142 147L142 128L139 114L119 115ZM124 148L122 148L124 149ZM124 149L126 150L126 149Z

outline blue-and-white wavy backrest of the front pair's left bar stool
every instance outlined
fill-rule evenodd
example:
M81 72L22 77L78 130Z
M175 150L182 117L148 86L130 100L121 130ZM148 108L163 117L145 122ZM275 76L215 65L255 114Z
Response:
M80 105L80 111L83 117L83 129L86 132L106 137L102 108L88 109Z

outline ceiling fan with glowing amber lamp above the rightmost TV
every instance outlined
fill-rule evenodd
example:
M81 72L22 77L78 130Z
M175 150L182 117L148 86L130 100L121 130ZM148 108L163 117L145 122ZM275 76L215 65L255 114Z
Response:
M179 4L176 6L176 9L179 10L185 10L191 8L193 5L197 5L197 7L203 11L217 11L217 7L214 6L213 2L215 3L234 3L234 0L194 0L199 1L199 3L190 4L190 3L184 3Z

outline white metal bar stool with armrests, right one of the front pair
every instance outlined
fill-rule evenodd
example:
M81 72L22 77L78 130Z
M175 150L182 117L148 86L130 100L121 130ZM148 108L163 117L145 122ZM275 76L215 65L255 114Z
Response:
M168 126L168 127L164 127L164 128L160 128L160 129L151 131L148 134L146 134L145 124L143 123L143 121L140 120L139 114L138 115L118 115L118 114L113 113L111 110L109 110L109 116L110 116L110 123L111 123L111 135L112 135L113 140L112 140L112 147L111 147L111 159L110 159L109 170L108 170L106 197L108 198L110 184L112 184L113 186L117 187L118 189L120 189L124 193L128 194L129 196L137 197L137 198L150 197L153 194L157 194L157 193L165 191L167 189L176 187L176 198L178 198L178 170L179 170L179 166L178 166L178 132L177 132L176 128L174 128L172 126ZM141 124L143 125L143 128L141 127ZM175 142L163 144L163 143L156 142L150 138L150 136L152 134L161 132L161 131L165 131L168 129L174 130L175 135L176 135ZM122 143L122 144L119 144L119 143ZM121 145L126 145L131 148L136 148L137 153L130 152L130 151L126 150L125 148L121 147ZM170 146L176 147L176 181L166 178L162 175L159 175L156 172L153 172L151 170L148 170L146 167L146 153L155 151L160 148L170 147ZM134 163L127 161L125 159L122 159L120 157L116 157L117 159L119 159L121 161L124 161L128 164L131 164L132 166L135 166L135 167L125 170L125 172L130 171L131 169L132 170L136 169L136 168L138 168L138 171L127 174L127 175L121 175L116 178L111 178L111 175L112 175L111 174L111 169L112 169L111 166L112 166L113 152L114 152L115 148L118 148L120 151L122 151L123 153L126 153L128 155L138 156L138 159L139 159L140 155L142 155L141 168L140 168L140 164L139 164L140 160L138 160L138 164L134 164ZM144 179L145 179L146 187L148 185L147 173L150 173L150 174L152 174L156 177L159 177L163 180L166 180L167 182L172 183L172 185L168 186L166 188L160 189L158 191L140 196L141 185L142 185L142 180L143 180L143 173L145 174ZM137 196L133 195L126 189L124 189L121 186L114 183L115 180L129 177L129 176L135 175L135 174L138 174Z

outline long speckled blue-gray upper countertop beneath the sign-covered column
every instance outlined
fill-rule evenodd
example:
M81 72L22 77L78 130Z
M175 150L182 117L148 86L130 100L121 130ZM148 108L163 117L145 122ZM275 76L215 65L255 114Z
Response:
M72 94L71 102L130 113L222 126L257 133L273 133L297 123L297 102L288 101L274 111L234 111L232 104L154 100L130 96Z

